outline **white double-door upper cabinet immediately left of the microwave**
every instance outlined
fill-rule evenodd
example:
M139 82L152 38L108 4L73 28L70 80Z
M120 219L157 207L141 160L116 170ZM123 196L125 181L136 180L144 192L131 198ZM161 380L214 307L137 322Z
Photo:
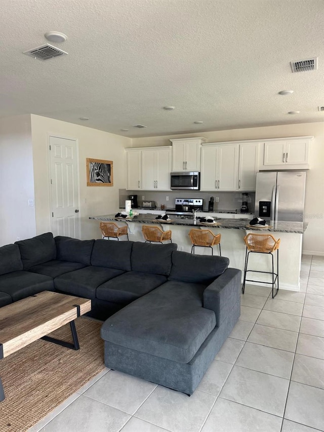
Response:
M142 190L170 190L171 146L142 150Z

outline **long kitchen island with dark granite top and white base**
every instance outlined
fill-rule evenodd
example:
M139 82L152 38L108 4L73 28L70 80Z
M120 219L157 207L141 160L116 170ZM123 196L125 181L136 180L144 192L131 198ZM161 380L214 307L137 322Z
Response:
M164 214L161 212L161 214ZM198 213L199 214L199 213ZM172 230L172 241L178 245L178 250L190 252L191 242L189 231L191 228L211 229L215 234L221 233L222 255L230 260L230 267L244 270L246 247L243 241L248 232L271 233L275 239L280 238L279 248L279 288L299 291L299 275L302 254L302 236L307 229L307 222L278 221L271 223L269 227L260 228L249 226L251 218L222 219L214 218L215 224L200 223L192 216L177 217L169 214L170 221L164 222L156 219L156 214L139 214L133 218L116 218L115 215L92 216L90 219L96 221L114 221L117 224L127 224L129 227L130 240L143 242L142 225L158 224L163 230ZM215 253L217 249L215 249ZM196 248L196 253L210 254L208 248ZM274 254L276 258L276 254ZM251 254L249 268L270 270L270 258L265 254ZM255 273L255 279L270 281L270 276ZM257 285L270 286L258 283Z

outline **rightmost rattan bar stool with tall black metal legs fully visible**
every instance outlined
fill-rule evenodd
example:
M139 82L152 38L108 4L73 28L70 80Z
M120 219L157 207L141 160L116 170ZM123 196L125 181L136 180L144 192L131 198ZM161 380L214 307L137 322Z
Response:
M242 285L242 293L245 291L246 282L262 282L264 284L272 285L272 298L277 295L279 289L279 244L280 239L276 240L271 234L254 234L250 232L244 238L244 242L247 246L245 253L245 267L244 267L244 280ZM277 251L277 272L274 272L273 266L273 252ZM248 261L250 253L259 254L270 254L272 260L272 271L261 271L261 270L248 270ZM268 273L272 274L272 282L254 281L253 279L247 279L247 272L254 271L256 273ZM274 285L277 282L277 290L273 295Z

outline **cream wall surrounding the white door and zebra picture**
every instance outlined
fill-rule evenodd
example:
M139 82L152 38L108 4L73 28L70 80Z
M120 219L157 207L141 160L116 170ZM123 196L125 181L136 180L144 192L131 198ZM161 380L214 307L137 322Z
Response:
M114 213L119 188L126 187L125 148L130 138L31 114L37 234L51 230L48 167L48 134L78 142L81 238L100 238L99 223L89 216ZM86 158L113 161L113 186L87 186Z

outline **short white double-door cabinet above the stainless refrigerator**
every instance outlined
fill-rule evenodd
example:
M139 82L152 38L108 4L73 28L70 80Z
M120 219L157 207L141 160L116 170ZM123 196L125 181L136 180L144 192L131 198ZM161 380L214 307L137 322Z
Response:
M308 158L308 140L282 140L264 143L264 165L288 166L308 164Z

